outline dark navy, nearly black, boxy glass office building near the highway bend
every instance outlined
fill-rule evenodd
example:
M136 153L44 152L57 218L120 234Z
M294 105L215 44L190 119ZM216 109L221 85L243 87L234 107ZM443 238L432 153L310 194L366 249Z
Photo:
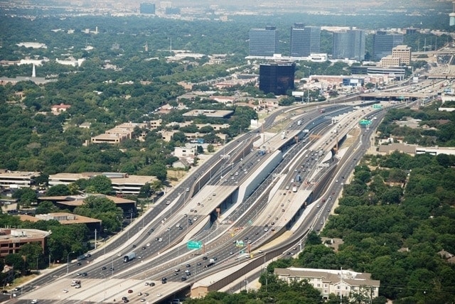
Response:
M259 89L265 94L284 95L294 89L295 63L259 65Z

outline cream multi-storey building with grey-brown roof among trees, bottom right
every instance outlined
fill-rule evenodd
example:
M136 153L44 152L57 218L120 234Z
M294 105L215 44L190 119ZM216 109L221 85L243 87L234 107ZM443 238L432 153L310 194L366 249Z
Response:
M370 300L377 298L380 281L373 280L370 273L358 273L350 270L316 269L316 268L275 268L274 274L280 280L306 280L311 286L321 291L324 299L333 293L338 297L351 298L362 294Z

